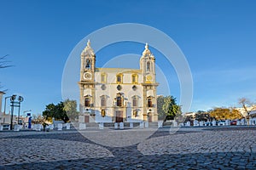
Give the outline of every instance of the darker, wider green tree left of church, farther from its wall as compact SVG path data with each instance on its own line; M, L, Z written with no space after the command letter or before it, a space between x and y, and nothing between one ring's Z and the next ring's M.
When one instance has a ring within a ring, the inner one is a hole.
M55 118L55 120L62 120L64 122L69 121L66 111L64 110L64 103L60 102L57 105L46 105L43 116L48 120L49 118Z

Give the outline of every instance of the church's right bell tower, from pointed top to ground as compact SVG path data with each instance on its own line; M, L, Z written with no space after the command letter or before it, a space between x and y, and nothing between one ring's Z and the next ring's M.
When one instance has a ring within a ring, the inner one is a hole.
M143 73L143 120L155 122L158 120L156 100L158 83L155 80L155 58L148 49L148 43L140 59L140 69Z

